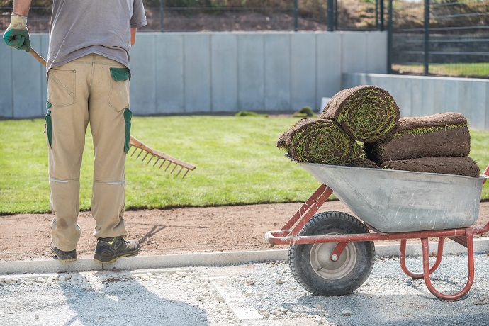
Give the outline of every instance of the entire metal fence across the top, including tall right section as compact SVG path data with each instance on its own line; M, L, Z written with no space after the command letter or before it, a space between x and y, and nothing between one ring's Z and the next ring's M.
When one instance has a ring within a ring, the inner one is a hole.
M386 17L390 73L489 76L489 0L144 2L142 32L384 30ZM10 13L0 8L1 30ZM29 30L47 32L50 14L49 6L33 6Z

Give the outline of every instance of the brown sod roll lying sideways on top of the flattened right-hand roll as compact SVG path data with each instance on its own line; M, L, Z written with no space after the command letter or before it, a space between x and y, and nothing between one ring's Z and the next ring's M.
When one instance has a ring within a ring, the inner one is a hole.
M366 157L377 164L418 157L463 157L471 151L466 118L460 113L400 118L393 135L365 143Z

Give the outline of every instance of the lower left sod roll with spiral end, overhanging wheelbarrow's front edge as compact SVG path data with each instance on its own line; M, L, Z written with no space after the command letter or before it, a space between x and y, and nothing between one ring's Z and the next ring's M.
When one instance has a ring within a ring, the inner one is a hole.
M303 118L277 140L298 162L347 165L359 159L361 146L337 123L326 119Z

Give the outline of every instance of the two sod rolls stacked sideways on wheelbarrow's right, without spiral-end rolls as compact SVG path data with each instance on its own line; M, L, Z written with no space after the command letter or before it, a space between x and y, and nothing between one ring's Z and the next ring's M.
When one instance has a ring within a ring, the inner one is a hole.
M366 157L385 169L479 176L468 157L471 136L460 113L400 118L393 135L364 144Z

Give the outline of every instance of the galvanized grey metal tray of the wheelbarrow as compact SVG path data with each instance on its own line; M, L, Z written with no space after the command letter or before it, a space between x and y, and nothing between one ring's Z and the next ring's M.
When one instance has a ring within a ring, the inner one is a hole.
M470 227L478 218L485 176L298 164L380 232Z

